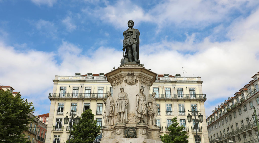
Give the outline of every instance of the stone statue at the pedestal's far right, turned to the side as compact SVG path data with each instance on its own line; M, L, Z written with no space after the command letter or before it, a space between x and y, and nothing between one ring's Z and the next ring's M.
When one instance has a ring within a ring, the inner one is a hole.
M148 125L155 125L156 126L156 116L158 113L159 107L156 105L156 99L155 99L155 92L152 92L152 96L149 98L148 101L148 116L149 116L149 122Z

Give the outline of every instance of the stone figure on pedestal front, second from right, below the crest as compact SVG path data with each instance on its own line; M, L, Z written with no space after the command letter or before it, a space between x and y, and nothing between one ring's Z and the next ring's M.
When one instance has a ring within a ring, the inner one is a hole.
M137 118L139 118L139 123L144 123L144 116L146 115L147 112L147 102L146 102L146 95L143 93L144 92L144 87L141 86L139 89L139 94L136 95L136 111L135 115Z

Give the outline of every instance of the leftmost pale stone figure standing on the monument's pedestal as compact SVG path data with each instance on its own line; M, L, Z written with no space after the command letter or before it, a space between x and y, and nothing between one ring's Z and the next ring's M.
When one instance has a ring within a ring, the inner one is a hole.
M103 114L103 119L105 125L113 125L113 118L114 118L114 101L113 97L111 96L111 92L107 91L108 98L104 101L105 110Z

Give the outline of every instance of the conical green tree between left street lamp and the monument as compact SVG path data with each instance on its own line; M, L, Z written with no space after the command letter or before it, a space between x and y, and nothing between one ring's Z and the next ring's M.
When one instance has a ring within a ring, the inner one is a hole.
M92 110L88 109L81 114L78 125L73 125L71 135L74 139L70 143L92 143L100 132L101 127L96 124ZM68 143L69 141L67 141Z

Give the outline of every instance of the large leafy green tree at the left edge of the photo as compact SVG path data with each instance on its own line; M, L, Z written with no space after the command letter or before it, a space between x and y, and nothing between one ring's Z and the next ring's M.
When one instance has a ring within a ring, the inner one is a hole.
M34 111L33 103L19 93L13 96L9 90L0 90L0 142L28 142L22 132L28 129L31 111Z

